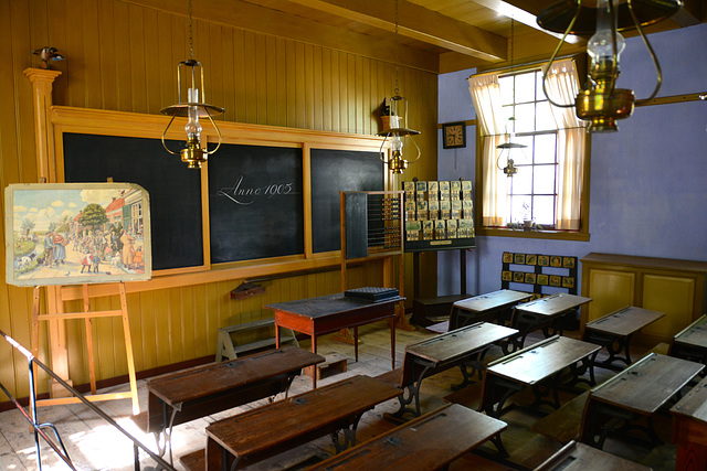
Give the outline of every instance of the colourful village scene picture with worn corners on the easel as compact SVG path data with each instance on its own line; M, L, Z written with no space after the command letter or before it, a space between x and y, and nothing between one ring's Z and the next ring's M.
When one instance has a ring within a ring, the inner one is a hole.
M149 196L131 183L13 184L6 242L11 285L147 280Z

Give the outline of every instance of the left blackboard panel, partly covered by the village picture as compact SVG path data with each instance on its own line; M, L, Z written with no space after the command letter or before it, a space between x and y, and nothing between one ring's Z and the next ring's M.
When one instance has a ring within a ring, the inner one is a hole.
M150 195L152 269L203 265L201 176L159 139L64 132L67 183L137 183ZM168 142L169 144L170 142ZM175 142L172 147L178 148Z

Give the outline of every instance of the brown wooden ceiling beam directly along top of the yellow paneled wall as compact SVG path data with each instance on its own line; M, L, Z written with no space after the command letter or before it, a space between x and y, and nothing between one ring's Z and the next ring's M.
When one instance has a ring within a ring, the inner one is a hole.
M187 1L124 1L168 13L188 14ZM394 40L372 38L246 1L192 0L192 18L439 73L436 53L397 45Z

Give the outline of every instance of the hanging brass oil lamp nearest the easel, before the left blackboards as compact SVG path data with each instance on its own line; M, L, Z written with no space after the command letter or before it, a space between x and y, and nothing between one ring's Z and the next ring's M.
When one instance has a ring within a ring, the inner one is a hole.
M221 115L223 113L223 108L203 103L205 101L205 92L203 89L203 65L199 61L194 60L191 28L191 0L189 1L189 55L190 58L180 62L177 66L177 87L179 88L179 103L160 110L162 115L170 115L172 117L169 120L167 128L165 128L165 132L162 132L162 146L169 153L181 156L182 162L186 162L189 169L201 169L201 164L207 161L209 156L214 153L217 150L219 150L219 147L221 147L221 131L219 130L217 124L213 121L213 116ZM184 83L184 88L182 88L182 71L187 71L186 74L191 77L188 83ZM200 101L199 99L200 89L201 100L203 101ZM186 100L182 99L182 93L184 93L187 97ZM177 118L178 116L187 118L187 125L184 126L184 131L187 132L187 141L183 149L181 149L179 152L175 152L167 147L165 137L170 126L175 121L175 118ZM205 147L201 147L201 131L203 128L199 122L199 119L204 117L209 118L209 121L211 121L211 125L219 136L219 143L212 151L209 151Z

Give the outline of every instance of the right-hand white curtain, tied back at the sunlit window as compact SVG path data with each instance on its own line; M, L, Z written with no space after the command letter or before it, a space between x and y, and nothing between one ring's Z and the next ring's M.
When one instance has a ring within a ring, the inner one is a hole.
M544 67L542 72L547 69ZM546 92L558 104L574 103L579 92L574 61L553 62L546 78ZM580 203L584 179L587 124L579 119L574 107L550 107L557 124L558 197L556 214L558 229L580 228ZM584 208L588 211L589 208Z

